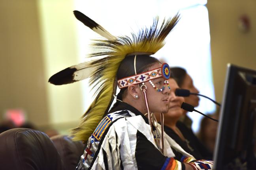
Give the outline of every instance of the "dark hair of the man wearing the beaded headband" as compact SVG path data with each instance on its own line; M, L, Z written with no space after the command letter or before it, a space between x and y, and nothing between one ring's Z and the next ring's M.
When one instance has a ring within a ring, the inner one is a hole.
M120 66L117 70L117 79L135 75L134 57L135 57L135 55L127 56L120 63ZM149 55L137 55L136 56L136 74L148 71L149 67L151 67L154 63L160 63L160 62L155 57L151 57ZM120 90L120 92L117 95L117 99L122 100L123 95L125 95L126 89L127 88L123 88ZM114 109L115 107L117 107L118 103L119 103L119 101L117 101L113 105L111 110Z

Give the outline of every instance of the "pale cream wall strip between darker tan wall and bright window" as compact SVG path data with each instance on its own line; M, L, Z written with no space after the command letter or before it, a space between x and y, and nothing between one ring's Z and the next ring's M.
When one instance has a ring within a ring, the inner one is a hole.
M56 72L81 62L73 10L73 0L38 0L47 103L50 121L55 127L77 126L84 112L81 82L61 86L47 83Z

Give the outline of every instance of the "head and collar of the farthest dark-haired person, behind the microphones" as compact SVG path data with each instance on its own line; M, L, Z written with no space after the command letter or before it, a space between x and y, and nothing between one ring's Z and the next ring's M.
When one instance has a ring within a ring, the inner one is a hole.
M194 86L192 78L188 75L186 70L181 67L171 67L171 72L173 74L173 78L177 82L178 86L181 89L187 89L193 93L199 93L198 89ZM190 95L188 97L184 97L186 103L197 107L199 105L200 98L196 95ZM183 110L183 116L181 116L180 120L183 122L189 129L192 126L192 120L186 115L187 111Z

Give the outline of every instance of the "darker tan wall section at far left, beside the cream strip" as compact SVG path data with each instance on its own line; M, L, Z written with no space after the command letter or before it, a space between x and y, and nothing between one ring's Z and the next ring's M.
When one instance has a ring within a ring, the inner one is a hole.
M40 126L49 114L38 24L36 1L0 2L0 117L21 108Z

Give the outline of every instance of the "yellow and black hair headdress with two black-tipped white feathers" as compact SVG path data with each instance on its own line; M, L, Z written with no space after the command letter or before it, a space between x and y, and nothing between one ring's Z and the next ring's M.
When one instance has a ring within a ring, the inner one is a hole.
M49 82L60 85L90 78L90 85L96 91L96 98L82 116L81 124L73 129L74 140L86 141L113 102L113 94L116 93L117 88L117 70L122 60L129 54L146 53L151 55L160 50L164 46L166 36L177 24L179 14L164 20L160 26L157 17L150 28L143 28L137 34L131 33L130 37L115 37L79 11L74 11L74 14L78 20L106 39L94 40L92 53L89 54L92 59L90 63L81 63L66 68L53 75ZM101 58L99 59L99 57ZM88 71L89 69L92 71ZM77 71L85 76L76 76ZM75 79L76 77L79 79ZM96 84L100 84L100 86Z

